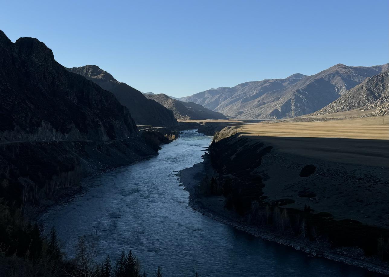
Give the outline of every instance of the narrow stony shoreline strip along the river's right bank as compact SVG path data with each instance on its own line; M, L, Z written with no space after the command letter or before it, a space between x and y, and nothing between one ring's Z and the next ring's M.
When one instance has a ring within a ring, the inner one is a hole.
M364 256L363 250L358 247L336 247L323 242L303 240L301 238L285 237L275 232L270 227L256 227L246 222L234 211L225 208L225 199L220 196L204 196L199 190L199 183L214 175L210 166L208 154L205 154L205 161L195 164L191 168L182 170L178 176L182 184L189 191L189 205L218 222L231 225L261 239L277 242L291 246L298 251L307 253L309 257L324 257L329 260L339 261L348 265L361 267L366 270L380 274L389 274L386 263L380 262L377 258Z

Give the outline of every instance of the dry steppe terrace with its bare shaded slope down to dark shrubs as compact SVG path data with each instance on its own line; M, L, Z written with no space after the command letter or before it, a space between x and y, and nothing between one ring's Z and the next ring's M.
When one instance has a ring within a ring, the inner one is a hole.
M193 122L230 126L225 133L250 138L245 147L258 140L273 147L255 171L266 184L266 201L289 198L295 202L285 207L302 209L307 204L335 219L389 227L389 116ZM301 178L307 164L314 164L316 171ZM302 198L302 190L316 197Z

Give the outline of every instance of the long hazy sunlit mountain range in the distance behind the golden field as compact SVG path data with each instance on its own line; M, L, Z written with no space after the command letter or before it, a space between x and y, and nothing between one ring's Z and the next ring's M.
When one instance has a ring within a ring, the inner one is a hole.
M251 81L232 88L213 88L180 100L242 119L290 118L321 109L387 66L336 64L312 76L296 73L286 79Z

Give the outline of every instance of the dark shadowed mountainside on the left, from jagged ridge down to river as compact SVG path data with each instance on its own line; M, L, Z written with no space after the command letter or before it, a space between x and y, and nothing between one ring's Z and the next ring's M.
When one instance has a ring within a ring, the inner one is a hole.
M35 38L0 31L0 197L40 203L80 178L157 154L115 95Z

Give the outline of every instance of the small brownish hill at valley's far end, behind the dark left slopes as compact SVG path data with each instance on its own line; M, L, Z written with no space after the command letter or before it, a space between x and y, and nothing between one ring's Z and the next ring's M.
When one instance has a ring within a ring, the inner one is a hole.
M163 93L145 96L173 111L177 119L227 119L223 114L211 111L199 104L172 99Z

